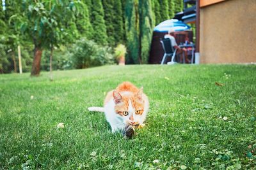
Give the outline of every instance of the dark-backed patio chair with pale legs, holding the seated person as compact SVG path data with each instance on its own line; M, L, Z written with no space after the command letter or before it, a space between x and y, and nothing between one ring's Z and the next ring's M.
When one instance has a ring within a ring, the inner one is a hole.
M164 56L161 61L161 65L164 64L166 57L172 57L171 62L168 62L167 64L175 64L176 62L174 62L174 58L177 50L173 48L170 38L163 38L160 42L164 48Z

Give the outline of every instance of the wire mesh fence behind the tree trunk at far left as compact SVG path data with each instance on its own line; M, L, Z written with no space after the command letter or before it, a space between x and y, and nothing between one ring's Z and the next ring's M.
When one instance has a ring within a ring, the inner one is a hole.
M20 73L22 69L23 73L30 72L33 64L33 48L20 47L20 62L18 47L15 49L3 49L0 48L0 74L4 73ZM49 53L44 52L41 59L41 70L49 71ZM21 64L21 67L19 67ZM56 65L56 62L52 62L52 66Z

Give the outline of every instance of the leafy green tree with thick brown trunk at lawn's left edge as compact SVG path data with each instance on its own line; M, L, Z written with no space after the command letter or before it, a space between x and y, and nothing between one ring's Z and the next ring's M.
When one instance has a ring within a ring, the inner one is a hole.
M79 4L79 5L78 5ZM31 76L40 74L42 51L51 51L77 37L74 16L82 12L80 1L22 1L22 15L13 15L22 34L35 46Z

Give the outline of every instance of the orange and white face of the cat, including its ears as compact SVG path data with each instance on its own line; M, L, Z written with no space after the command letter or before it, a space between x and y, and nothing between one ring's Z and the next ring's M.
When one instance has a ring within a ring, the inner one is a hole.
M124 124L143 124L144 101L142 99L143 89L134 96L121 96L114 90L115 113L120 116Z

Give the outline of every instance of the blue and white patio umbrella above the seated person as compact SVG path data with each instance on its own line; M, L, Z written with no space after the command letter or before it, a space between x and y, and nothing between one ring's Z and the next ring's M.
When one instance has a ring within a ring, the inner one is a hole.
M191 27L180 20L172 19L161 22L154 28L154 31L168 32L170 28L174 29L174 31L185 31L189 30Z

